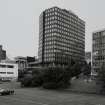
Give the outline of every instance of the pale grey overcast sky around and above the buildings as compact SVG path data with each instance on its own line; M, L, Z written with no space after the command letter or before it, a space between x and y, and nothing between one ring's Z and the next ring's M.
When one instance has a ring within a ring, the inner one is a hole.
M92 32L105 28L105 0L0 0L0 44L7 56L37 56L39 15L52 6L72 10L86 22L85 50Z

